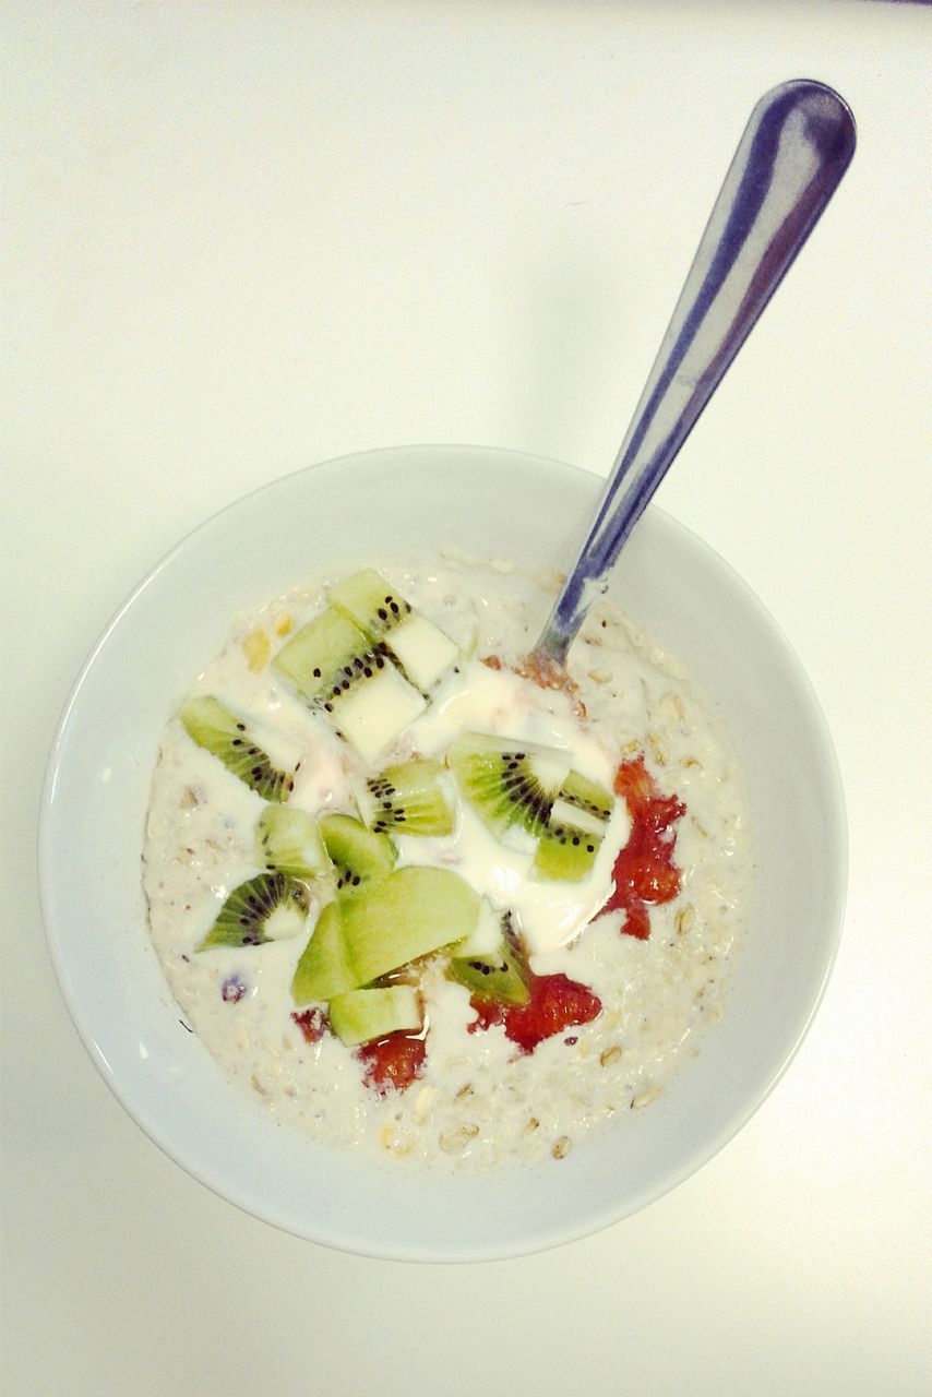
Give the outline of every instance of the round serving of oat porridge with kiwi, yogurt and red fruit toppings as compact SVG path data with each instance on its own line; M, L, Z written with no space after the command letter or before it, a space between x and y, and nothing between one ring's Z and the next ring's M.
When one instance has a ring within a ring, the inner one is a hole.
M152 940L278 1123L435 1168L560 1160L721 1018L752 882L735 757L606 601L567 683L535 682L556 581L444 555L295 590L166 725Z

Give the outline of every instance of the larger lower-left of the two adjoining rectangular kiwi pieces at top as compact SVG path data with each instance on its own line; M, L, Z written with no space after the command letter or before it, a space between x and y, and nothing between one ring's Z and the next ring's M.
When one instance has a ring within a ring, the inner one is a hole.
M302 626L272 665L363 761L374 761L425 708L423 696L335 606Z

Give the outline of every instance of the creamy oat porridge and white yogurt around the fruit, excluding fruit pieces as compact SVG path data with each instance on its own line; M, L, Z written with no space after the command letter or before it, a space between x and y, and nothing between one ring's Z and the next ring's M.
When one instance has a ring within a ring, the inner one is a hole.
M381 567L397 588L463 647L517 661L549 612L553 578L444 556L430 570ZM299 752L291 803L317 814L351 810L351 749L267 664L250 669L246 637L270 650L320 609L320 588L298 590L238 620L231 641L193 686L274 733L275 750ZM155 949L189 1024L228 1076L278 1122L335 1144L435 1166L485 1168L565 1155L584 1136L623 1120L665 1091L717 1021L727 997L752 866L739 774L710 704L682 666L604 601L571 652L587 717L562 692L538 689L478 659L450 673L429 710L384 761L443 753L464 728L565 747L584 775L611 787L620 760L644 756L664 795L686 806L678 824L680 891L650 908L651 936L622 935L623 914L592 921L612 891L612 866L630 830L618 800L591 875L576 884L527 873L532 847L503 845L465 807L446 840L400 835L400 863L456 868L507 907L538 974L563 972L590 986L602 1013L523 1055L502 1027L469 1032L468 992L437 967L423 983L428 1055L419 1081L379 1097L354 1052L331 1035L305 1042L289 986L307 933L260 947L196 953L224 898L254 876L254 823L263 802L177 719L163 733L152 781L144 886ZM309 926L313 923L313 915ZM231 997L224 985L243 988Z

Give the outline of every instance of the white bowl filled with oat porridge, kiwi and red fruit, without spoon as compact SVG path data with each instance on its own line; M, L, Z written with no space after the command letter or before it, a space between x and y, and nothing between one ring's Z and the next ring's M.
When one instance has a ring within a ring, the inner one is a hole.
M41 835L75 1025L229 1201L476 1260L706 1162L816 1010L840 782L787 641L651 509L560 683L528 664L601 481L517 453L326 462L137 588Z

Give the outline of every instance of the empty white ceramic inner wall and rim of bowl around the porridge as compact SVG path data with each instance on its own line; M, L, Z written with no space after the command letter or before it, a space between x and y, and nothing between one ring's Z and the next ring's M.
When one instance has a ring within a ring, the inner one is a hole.
M602 482L478 447L330 461L215 515L145 578L103 633L52 752L42 902L61 990L105 1080L183 1168L249 1213L373 1256L513 1256L594 1232L704 1164L760 1105L826 985L845 887L831 743L774 622L699 539L657 510L612 577L623 609L720 703L743 760L757 886L724 1023L650 1109L559 1168L435 1178L372 1166L270 1123L228 1085L162 978L140 854L159 732L235 612L330 564L453 545L566 567Z

